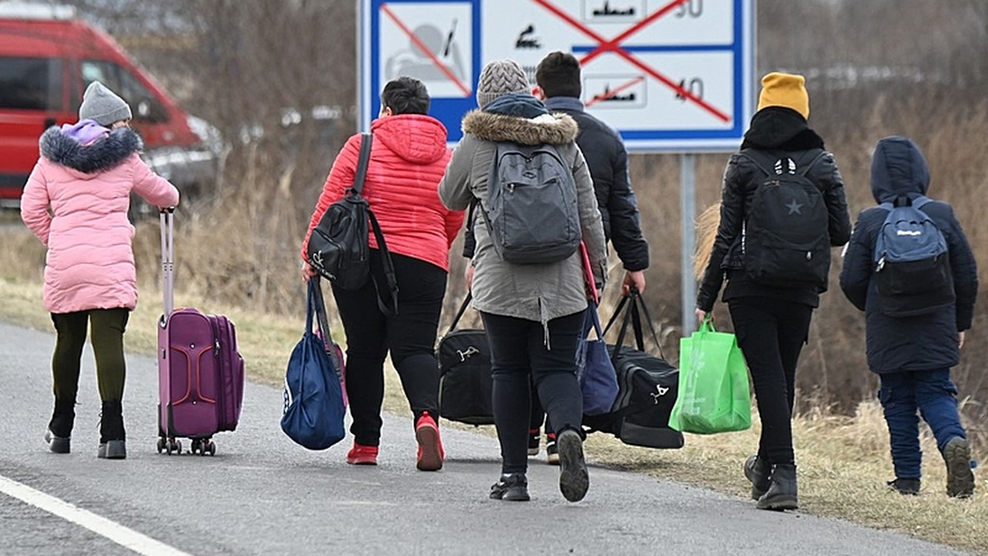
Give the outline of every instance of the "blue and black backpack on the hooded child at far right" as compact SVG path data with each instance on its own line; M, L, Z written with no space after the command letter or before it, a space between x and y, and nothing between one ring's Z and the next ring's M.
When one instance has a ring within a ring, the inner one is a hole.
M888 317L911 317L952 305L956 299L947 240L921 210L925 197L883 202L888 210L874 246L878 305Z

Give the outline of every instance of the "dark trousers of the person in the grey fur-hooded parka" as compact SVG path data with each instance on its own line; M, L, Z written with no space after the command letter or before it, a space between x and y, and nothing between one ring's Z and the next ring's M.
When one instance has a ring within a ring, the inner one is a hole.
M583 394L576 381L576 349L583 313L548 322L548 345L541 323L481 313L491 349L494 425L501 442L502 472L524 473L529 458L531 385L556 434L581 432Z

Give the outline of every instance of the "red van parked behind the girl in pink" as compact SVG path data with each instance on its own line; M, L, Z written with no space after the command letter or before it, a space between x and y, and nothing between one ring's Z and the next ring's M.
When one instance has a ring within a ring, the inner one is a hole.
M158 174L180 188L214 176L206 123L179 108L115 40L76 19L72 7L0 1L0 203L19 202L41 133L76 121L93 81L130 105Z

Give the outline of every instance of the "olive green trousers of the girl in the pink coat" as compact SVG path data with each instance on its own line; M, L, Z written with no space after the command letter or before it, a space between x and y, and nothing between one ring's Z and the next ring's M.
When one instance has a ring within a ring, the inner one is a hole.
M124 329L129 316L130 311L124 308L51 313L51 321L58 331L55 354L51 358L56 400L75 401L82 348L86 345L87 325L91 323L100 398L105 402L123 401L126 375Z

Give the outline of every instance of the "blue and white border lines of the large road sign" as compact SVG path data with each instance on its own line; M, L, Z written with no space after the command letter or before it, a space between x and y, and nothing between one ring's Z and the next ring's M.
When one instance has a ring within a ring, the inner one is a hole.
M360 3L360 44L359 53L359 126L369 129L372 119L380 111L378 92L380 83L380 29L381 4L465 4L472 10L472 72L470 89L480 77L481 62L481 4L484 0L361 0ZM639 152L704 152L735 150L740 144L748 120L753 114L755 82L755 10L756 0L733 0L734 25L733 40L729 44L669 44L669 45L628 45L629 52L655 51L731 51L734 54L734 125L730 129L665 129L665 130L619 130L629 151ZM370 24L370 26L368 26ZM593 50L593 45L573 45L574 53ZM364 54L370 52L367 57ZM365 75L370 73L370 75ZM433 99L430 114L443 121L449 131L449 141L457 142L462 137L459 120L464 114L477 108L475 96L462 99Z

